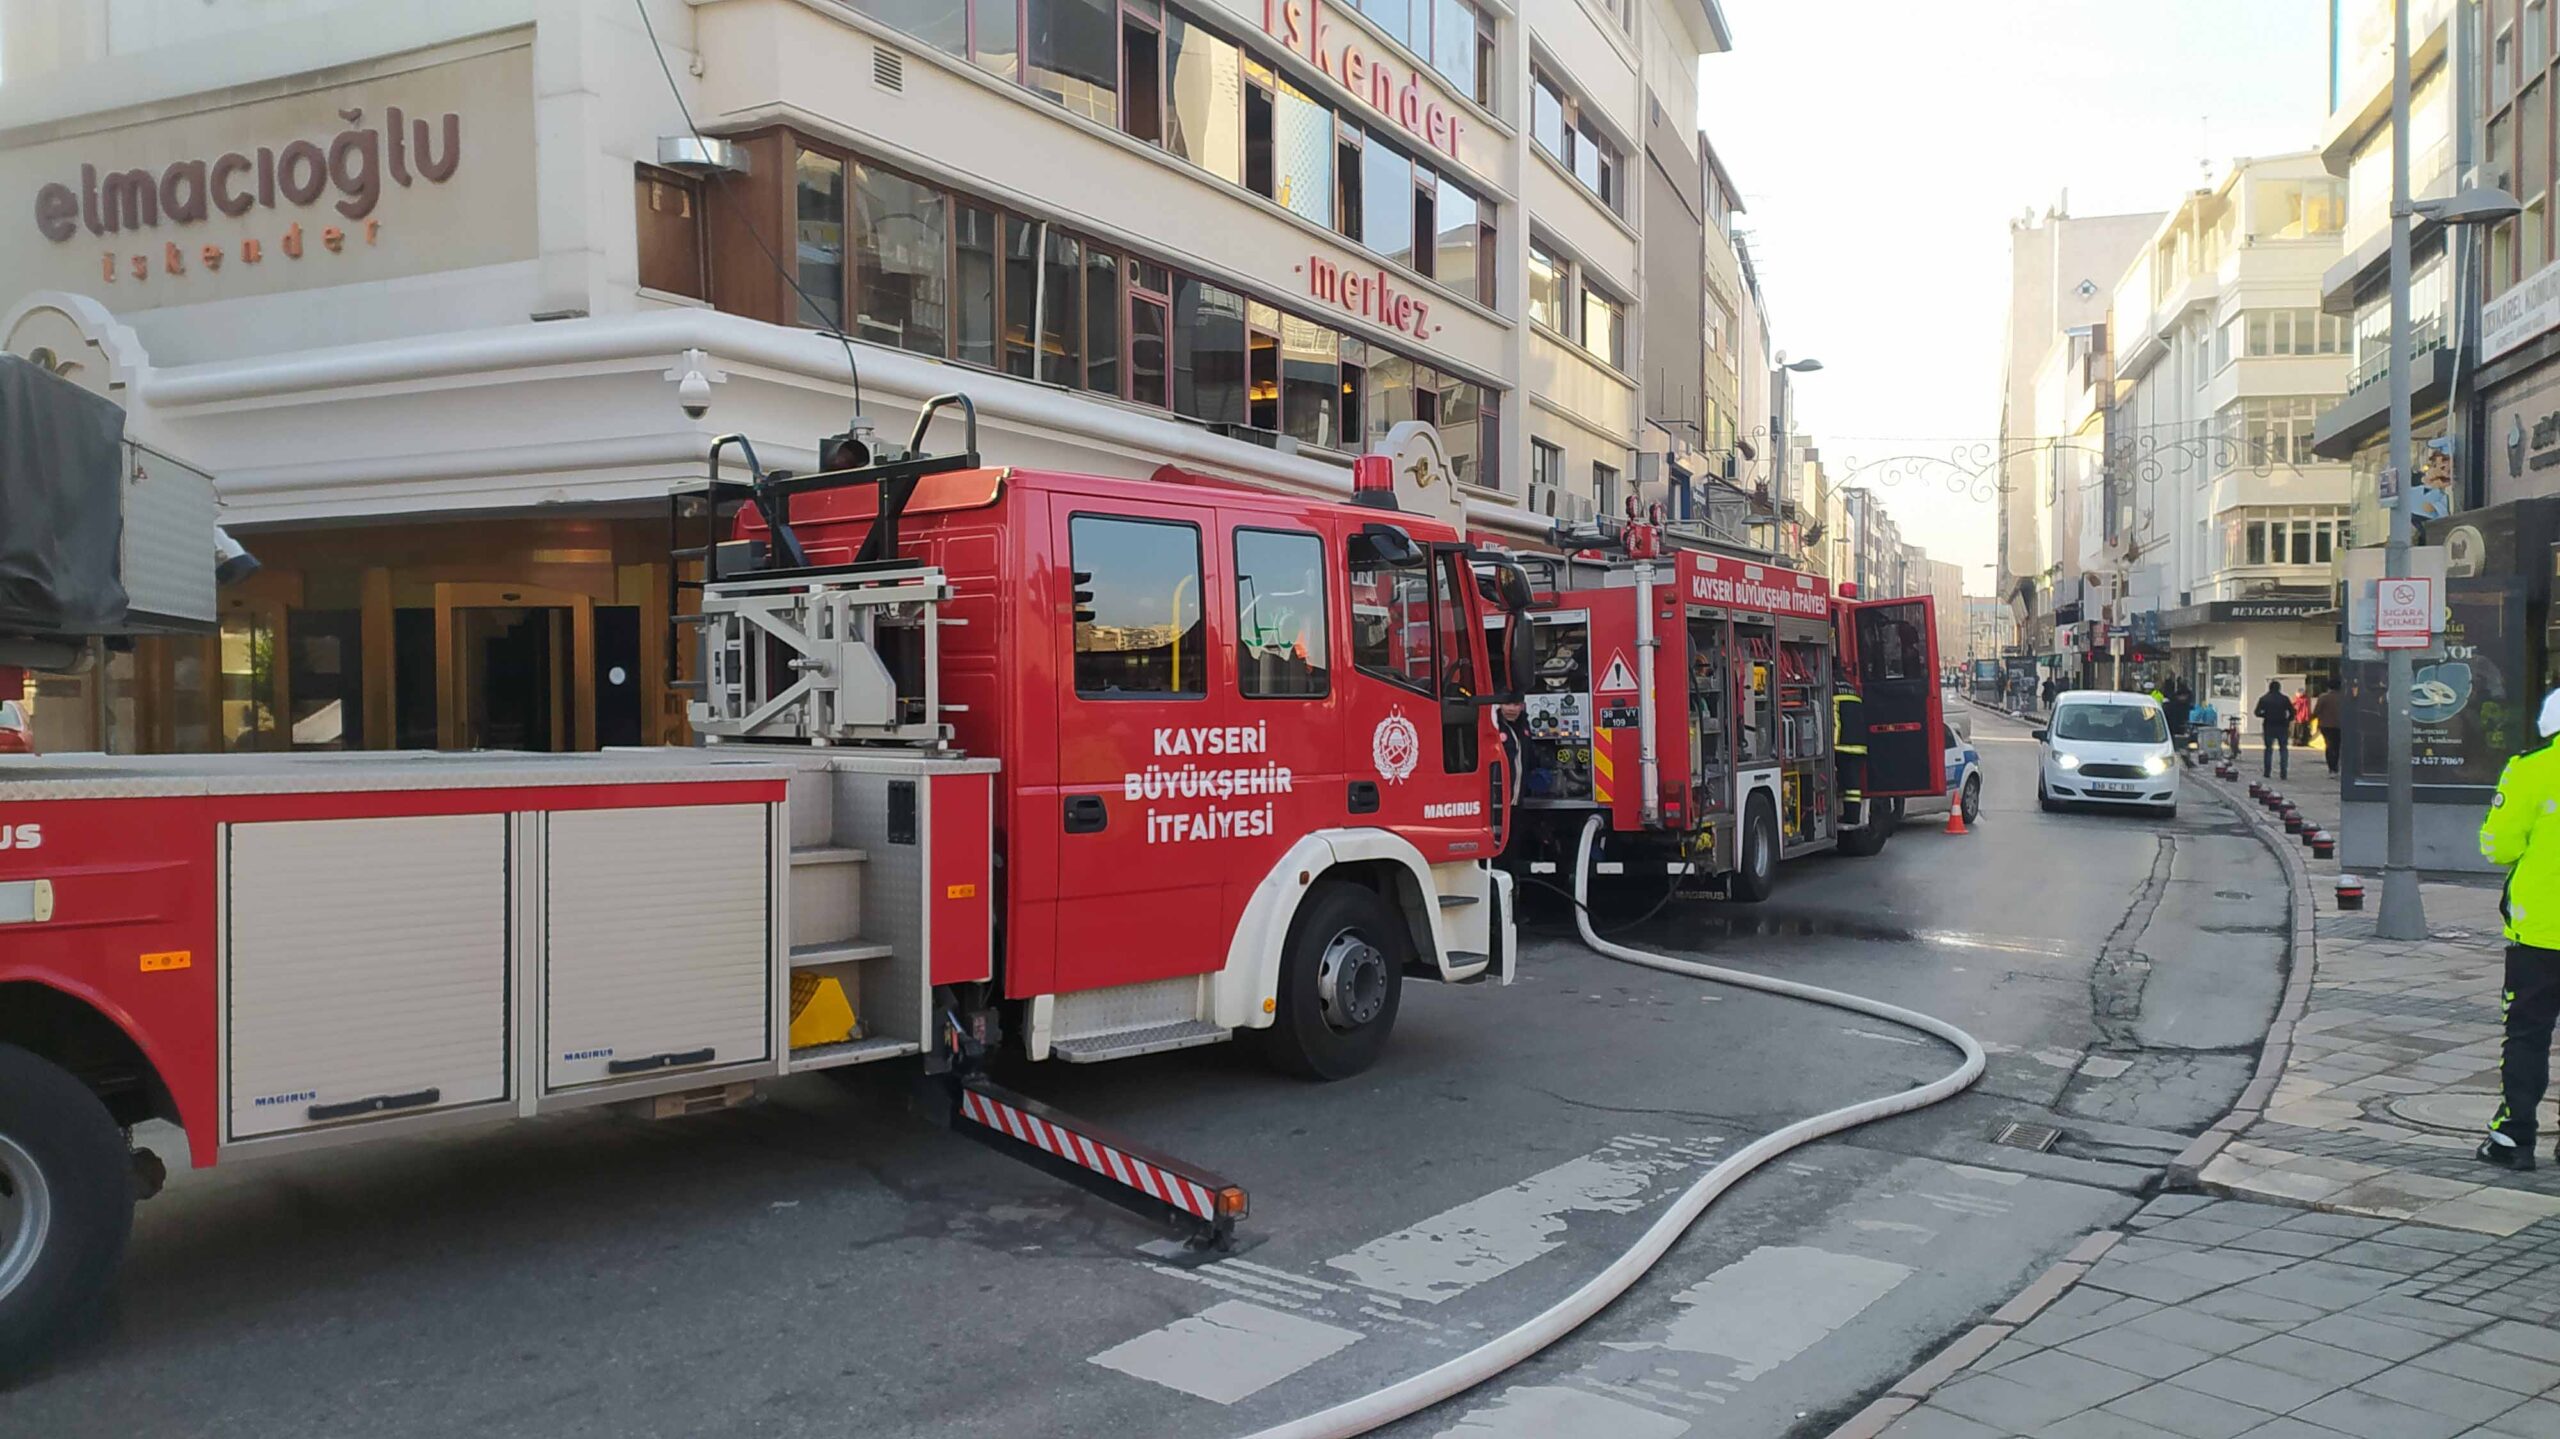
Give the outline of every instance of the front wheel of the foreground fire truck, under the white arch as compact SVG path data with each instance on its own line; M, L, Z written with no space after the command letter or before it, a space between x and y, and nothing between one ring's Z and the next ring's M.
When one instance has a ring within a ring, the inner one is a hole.
M1405 988L1405 919L1375 888L1321 881L1288 927L1280 1011L1260 1029L1280 1073L1339 1081L1377 1063Z

